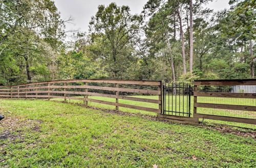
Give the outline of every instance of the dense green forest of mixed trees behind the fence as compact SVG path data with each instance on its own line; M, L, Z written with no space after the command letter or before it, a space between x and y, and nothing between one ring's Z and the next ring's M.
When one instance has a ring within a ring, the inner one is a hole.
M255 76L255 1L148 0L140 14L99 5L88 32L51 0L0 1L0 85L115 78L192 82Z

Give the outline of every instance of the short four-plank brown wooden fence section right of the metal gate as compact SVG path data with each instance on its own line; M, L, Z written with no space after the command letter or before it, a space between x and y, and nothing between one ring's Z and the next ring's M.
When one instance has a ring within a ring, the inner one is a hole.
M207 86L208 88L211 86L227 86L229 87L229 91L231 91L232 86L255 86L256 87L256 79L241 79L241 80L196 80L194 86L194 117L195 118L203 118L203 119L211 119L211 120L221 120L221 121L229 121L229 122L239 122L239 123L246 123L246 124L256 124L256 93L231 93L231 92L212 92L212 91L198 91L198 87L200 86ZM226 89L227 90L227 89ZM246 92L246 91L245 91ZM202 97L206 99L206 97L217 97L217 98L224 98L221 99L223 103L202 103L198 102L198 97ZM235 99L230 98L239 98L237 101ZM250 101L250 105L237 105L235 103L239 103L242 99L246 99ZM225 104L225 99L229 99L229 104ZM198 108L203 108L204 111L207 111L209 108L214 109L225 109L224 115L209 115L209 114L202 114L198 113ZM205 109L207 108L207 109ZM227 113L229 111L233 113L239 113L240 111L241 116L244 111L252 111L251 115L246 118L243 117L231 117L228 116ZM225 114L226 113L226 114Z

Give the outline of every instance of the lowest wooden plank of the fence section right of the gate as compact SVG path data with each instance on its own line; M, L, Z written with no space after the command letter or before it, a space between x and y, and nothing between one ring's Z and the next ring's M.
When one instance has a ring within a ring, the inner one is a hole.
M195 114L194 117L195 118L202 118L202 119L210 119L210 120L221 120L221 121L245 123L245 124L256 124L255 119L245 119L245 118L215 116L215 115L204 115L204 114Z

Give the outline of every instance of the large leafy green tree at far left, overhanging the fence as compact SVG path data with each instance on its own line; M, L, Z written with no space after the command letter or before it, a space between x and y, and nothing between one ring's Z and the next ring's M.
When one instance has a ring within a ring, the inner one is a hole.
M32 73L36 76L39 72L35 70L34 65L40 62L47 66L54 60L55 55L51 51L56 48L51 44L58 45L58 37L63 37L64 23L54 2L50 0L6 0L1 4L0 15L0 59L12 57L17 60L15 64L18 64L18 73L23 74L25 70L27 81L30 82L33 80ZM51 34L56 35L54 42L49 40ZM13 71L12 68L5 68L6 62L1 63L0 67L4 67L4 73ZM18 80L17 78L15 80Z

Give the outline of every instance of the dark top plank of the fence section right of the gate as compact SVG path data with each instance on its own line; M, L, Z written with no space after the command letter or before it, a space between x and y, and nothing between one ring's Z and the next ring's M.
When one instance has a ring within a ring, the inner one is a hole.
M195 80L195 86L256 85L256 79Z

